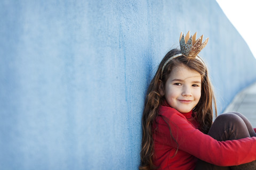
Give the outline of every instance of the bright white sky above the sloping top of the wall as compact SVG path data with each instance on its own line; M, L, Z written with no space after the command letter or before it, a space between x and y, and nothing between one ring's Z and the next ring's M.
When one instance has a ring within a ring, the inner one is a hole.
M256 1L216 0L256 58Z

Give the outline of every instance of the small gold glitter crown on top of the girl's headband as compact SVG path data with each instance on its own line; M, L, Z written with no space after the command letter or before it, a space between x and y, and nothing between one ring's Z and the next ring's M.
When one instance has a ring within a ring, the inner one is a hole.
M184 37L182 32L180 33L180 50L183 55L195 58L206 46L209 38L206 38L204 43L202 43L204 35L196 40L196 33L193 36L190 36L190 38L189 33L190 31L188 31L186 37Z

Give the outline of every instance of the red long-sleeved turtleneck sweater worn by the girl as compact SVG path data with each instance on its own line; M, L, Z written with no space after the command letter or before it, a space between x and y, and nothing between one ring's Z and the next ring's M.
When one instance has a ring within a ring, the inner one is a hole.
M197 158L219 166L233 166L256 159L256 137L239 140L217 141L198 130L198 123L191 120L192 112L181 114L170 106L160 106L153 127L154 165L158 169L194 169Z

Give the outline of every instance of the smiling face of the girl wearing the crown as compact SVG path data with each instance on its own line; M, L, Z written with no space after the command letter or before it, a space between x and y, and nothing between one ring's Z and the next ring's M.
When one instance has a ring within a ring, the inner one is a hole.
M165 96L172 108L188 113L201 97L201 84L201 75L182 64L173 68L161 95Z

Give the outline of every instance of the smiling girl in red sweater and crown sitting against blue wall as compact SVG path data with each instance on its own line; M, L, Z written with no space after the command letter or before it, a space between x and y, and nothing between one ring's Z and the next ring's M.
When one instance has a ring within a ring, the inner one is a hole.
M256 169L256 133L247 118L227 113L212 123L215 98L197 56L208 39L195 39L181 33L181 51L165 55L149 84L139 169Z

